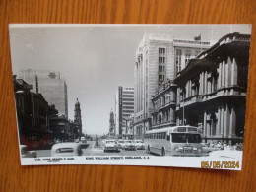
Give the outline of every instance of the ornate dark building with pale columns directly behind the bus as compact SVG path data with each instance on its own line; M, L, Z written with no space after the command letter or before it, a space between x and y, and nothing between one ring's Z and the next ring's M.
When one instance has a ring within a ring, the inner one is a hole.
M250 35L234 32L189 61L175 79L177 125L202 127L206 142L243 141L249 47Z

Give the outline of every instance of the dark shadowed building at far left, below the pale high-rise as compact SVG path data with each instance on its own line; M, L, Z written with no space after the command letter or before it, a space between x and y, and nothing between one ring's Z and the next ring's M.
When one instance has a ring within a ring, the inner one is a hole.
M32 92L32 85L13 76L18 130L21 144L30 148L47 145L51 130L49 118L58 113L54 105L39 93Z

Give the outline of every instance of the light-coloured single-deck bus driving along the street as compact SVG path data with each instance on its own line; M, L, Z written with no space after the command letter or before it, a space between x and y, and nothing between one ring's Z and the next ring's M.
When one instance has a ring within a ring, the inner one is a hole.
M160 156L202 156L201 129L174 126L145 133L147 153Z

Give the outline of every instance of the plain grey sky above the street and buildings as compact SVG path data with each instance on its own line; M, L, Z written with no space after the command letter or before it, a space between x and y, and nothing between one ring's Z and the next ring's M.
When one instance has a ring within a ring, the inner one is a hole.
M145 33L217 41L250 25L10 25L13 73L59 71L68 88L68 114L81 105L83 132L107 134L118 86L134 87L135 53Z

